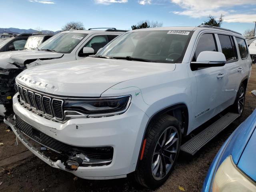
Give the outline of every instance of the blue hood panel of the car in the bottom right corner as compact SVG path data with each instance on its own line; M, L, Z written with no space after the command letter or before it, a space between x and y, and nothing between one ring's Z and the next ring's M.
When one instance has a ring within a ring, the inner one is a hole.
M255 120L255 119L254 119ZM254 126L255 128L255 126ZM250 178L256 181L256 130L252 133L250 140L248 141L244 152L238 162L238 167L246 173Z

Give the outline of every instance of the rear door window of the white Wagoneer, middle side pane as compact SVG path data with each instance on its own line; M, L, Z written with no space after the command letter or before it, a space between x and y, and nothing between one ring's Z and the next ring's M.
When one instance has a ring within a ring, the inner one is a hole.
M222 53L225 55L227 62L237 60L236 48L234 46L234 40L231 36L218 34Z

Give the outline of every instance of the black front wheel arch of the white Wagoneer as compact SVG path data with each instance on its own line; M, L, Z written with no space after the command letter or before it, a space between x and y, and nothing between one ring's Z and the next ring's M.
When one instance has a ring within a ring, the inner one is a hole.
M146 138L146 135L148 134L149 128L150 128L151 124L154 123L154 120L156 120L157 118L159 118L163 114L169 114L170 116L173 116L173 117L178 119L178 121L180 122L181 127L182 127L182 130L181 130L182 136L186 136L186 134L188 132L189 116L188 116L188 107L186 106L186 104L184 104L184 103L173 104L173 105L168 106L166 108L163 108L163 109L159 110L158 112L156 112L155 114L153 114L149 118L148 123L146 125L146 128L144 130L144 134L143 134L141 145L140 145L140 152L139 152L139 156L138 156L138 161L137 161L137 164L136 164L136 170L138 168L138 163L140 162L140 157L141 157L141 154L142 154L142 148L143 148L144 140Z

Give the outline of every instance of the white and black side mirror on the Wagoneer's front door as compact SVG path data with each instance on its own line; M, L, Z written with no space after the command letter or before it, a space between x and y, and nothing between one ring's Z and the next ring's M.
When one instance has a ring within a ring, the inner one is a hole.
M202 51L198 55L196 61L190 62L191 70L198 70L206 67L220 67L226 64L226 57L221 52Z

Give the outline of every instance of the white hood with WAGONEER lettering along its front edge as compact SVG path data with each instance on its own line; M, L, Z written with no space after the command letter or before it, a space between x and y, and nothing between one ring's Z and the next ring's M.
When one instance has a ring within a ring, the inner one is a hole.
M123 81L173 71L176 64L87 57L24 70L16 82L49 94L99 97ZM133 85L136 86L136 85Z

